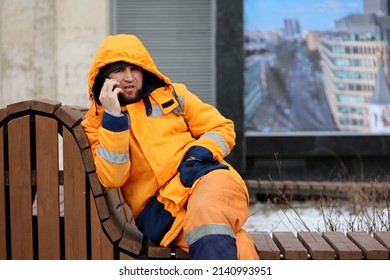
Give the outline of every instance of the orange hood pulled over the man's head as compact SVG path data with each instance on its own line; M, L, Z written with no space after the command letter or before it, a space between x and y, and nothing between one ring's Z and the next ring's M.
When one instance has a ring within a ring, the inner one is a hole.
M164 76L157 69L148 50L136 36L129 34L112 35L108 36L102 42L92 61L88 75L88 91L91 98L94 98L94 91L96 91L99 86L100 92L102 86L99 85L101 81L96 79L98 75L101 76L101 74L99 74L100 70L102 70L102 72L111 71L110 66L117 65L115 62L130 63L144 69L144 73L146 73L144 84L161 83L167 85L171 83L169 78ZM95 81L97 83L96 85ZM98 102L99 100L96 101Z

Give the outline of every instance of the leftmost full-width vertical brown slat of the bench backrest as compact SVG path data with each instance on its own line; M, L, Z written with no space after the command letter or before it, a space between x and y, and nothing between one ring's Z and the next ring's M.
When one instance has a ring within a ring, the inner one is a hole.
M8 146L12 259L33 259L29 115L8 123Z

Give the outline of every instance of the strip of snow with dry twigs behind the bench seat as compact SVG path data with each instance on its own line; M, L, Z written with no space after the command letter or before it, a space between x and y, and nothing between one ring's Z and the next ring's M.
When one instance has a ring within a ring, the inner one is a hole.
M293 202L290 207L274 204L251 204L247 231L367 231L389 230L389 205L354 205L347 202L323 204L315 201ZM333 227L333 229L330 228Z

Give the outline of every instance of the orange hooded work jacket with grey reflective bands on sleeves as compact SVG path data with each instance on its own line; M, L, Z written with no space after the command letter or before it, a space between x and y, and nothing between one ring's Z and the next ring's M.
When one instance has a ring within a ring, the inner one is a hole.
M155 75L163 86L148 93L148 102L141 99L122 107L129 122L124 131L111 131L102 126L104 108L95 100L82 125L102 185L121 187L136 218L152 197L172 215L172 224L159 240L161 246L168 246L182 229L184 206L199 180L196 178L192 186L186 187L178 172L191 148L201 147L210 154L212 161L227 166L228 169L218 172L230 174L247 192L240 175L224 160L235 144L234 124L215 107L203 103L185 85L171 83L133 35L108 36L99 47L89 72L91 99L99 70L117 61L140 66ZM145 79L144 83L147 83ZM146 113L148 103L151 111Z

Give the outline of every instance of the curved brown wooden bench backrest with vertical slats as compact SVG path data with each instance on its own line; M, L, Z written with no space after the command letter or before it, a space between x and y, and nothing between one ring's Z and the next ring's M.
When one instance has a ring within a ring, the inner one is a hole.
M0 110L0 259L119 258L101 222L120 235L105 199L120 195L102 189L82 119L49 100Z

